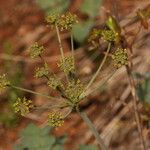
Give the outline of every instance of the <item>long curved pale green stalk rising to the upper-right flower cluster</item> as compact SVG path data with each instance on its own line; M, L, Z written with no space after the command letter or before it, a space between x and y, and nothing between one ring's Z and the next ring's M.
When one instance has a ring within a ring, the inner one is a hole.
M92 79L90 80L90 82L88 83L87 87L86 87L86 90L92 85L92 83L94 82L94 80L96 79L96 77L98 76L98 74L100 73L105 61L106 61L106 58L108 56L108 53L110 51L110 48L111 48L111 43L108 44L108 48L107 48L107 51L106 51L106 55L104 56L99 68L97 69L96 73L93 75Z

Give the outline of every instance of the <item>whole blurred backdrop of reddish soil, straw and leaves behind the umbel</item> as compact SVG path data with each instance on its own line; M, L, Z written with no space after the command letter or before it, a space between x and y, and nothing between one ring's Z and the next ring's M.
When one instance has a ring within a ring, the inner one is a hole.
M108 15L115 15L121 27L126 32L131 32L130 39L140 24L135 19L136 11L149 5L150 0L0 0L0 73L7 73L15 85L54 94L45 85L45 80L35 79L34 69L41 61L30 59L28 49L34 42L42 44L46 49L44 56L49 67L61 77L62 73L57 68L59 47L56 34L47 26L45 16L53 11L59 13L70 11L75 13L79 20L73 27L75 57L79 77L86 82L101 61L99 57L101 49L91 50L87 42L92 28L103 27ZM63 33L61 38L68 54L70 35ZM147 149L150 149L150 28L141 29L135 39L133 53L135 80L137 84L145 87L142 94L139 94L138 106L145 142ZM112 67L110 62L106 63L98 77L98 83L111 74ZM49 103L47 99L14 89L7 89L1 93L0 150L28 150L29 148L22 149L16 145L22 143L21 136L28 135L31 131L35 131L33 141L38 133L41 135L43 132L46 133L46 137L51 137L51 141L55 138L58 150L63 148L78 150L79 145L84 145L80 147L81 150L96 149L95 146L85 146L97 145L97 142L86 124L74 112L65 120L65 125L57 130L45 127L47 112L33 112L26 117L16 115L12 104L17 97L23 96L32 99L35 105ZM98 89L81 104L81 108L87 112L111 150L140 150L131 100L126 71L122 67L103 88ZM27 139L24 141L28 143Z

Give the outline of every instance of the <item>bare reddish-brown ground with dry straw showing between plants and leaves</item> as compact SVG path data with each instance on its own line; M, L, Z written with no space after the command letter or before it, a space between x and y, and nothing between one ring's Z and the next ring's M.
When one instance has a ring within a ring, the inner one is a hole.
M148 0L118 0L117 11L119 12L119 17L123 19L129 13L132 13L135 8L144 6L144 4L146 5L148 2L150 3ZM75 0L72 3L74 4L70 6L71 10L76 12L78 6L80 6L81 0ZM113 10L110 0L106 0L102 10L106 11L111 9ZM99 18L104 19L102 14ZM9 60L9 57L4 54L4 43L10 41L12 43L14 55L11 59L14 64L22 60L25 62L23 69L25 79L23 80L23 85L27 88L34 88L36 91L45 91L47 89L43 86L42 81L36 81L34 79L34 72L32 73L30 71L35 67L35 62L28 59L26 50L34 41L38 40L46 47L47 52L45 55L49 56L49 65L55 69L56 72L58 71L55 64L55 60L58 58L57 55L59 54L58 44L54 33L48 32L49 28L45 27L46 24L43 20L44 13L38 8L33 0L0 1L0 63L3 64L4 61ZM133 25L133 28L134 27L136 27L136 25ZM148 32L150 33L150 30L148 30ZM143 34L145 34L145 31L141 33L141 37L144 37ZM66 37L67 35L64 35L64 47L68 50L69 44ZM141 42L141 45L143 41L145 41L145 43L150 43L150 37L148 36L144 40L139 39L139 41ZM145 47L137 46L137 50L135 51L135 66L136 70L140 72L147 72L150 68L150 60L148 58L148 55L150 55L150 52L148 51L149 46L149 44ZM139 50L139 48L141 49ZM81 55L77 56L78 59L81 60L84 54L84 50L82 49ZM90 69L87 65L91 67L95 65L88 60L88 58L85 60L85 70L80 68L81 72L83 71L83 73L81 73L82 76L85 76L87 74L86 70ZM142 61L140 65L139 61ZM2 69L3 65L1 65L0 68ZM109 71L110 68L106 67L104 72L107 74ZM118 81L122 81L120 83L120 85L122 85L120 88L116 85ZM34 99L37 105L43 103L43 99L39 97L31 96L31 98ZM140 149L134 115L132 115L133 111L130 106L131 99L125 71L124 69L121 69L109 83L107 92L105 90L101 93L98 91L95 96L94 94L93 96L90 96L90 101L82 104L83 110L88 113L89 117L101 132L106 142L109 143L112 150ZM121 102L119 100L121 100ZM47 101L44 100L44 103L45 102ZM0 103L3 106L5 100L1 98ZM141 109L141 113L145 114L143 108ZM6 128L0 124L0 150L11 150L12 145L18 139L18 132L29 122L35 122L40 126L43 126L45 122L45 118L43 118L38 117L36 114L29 115L27 118L22 118L16 128ZM143 125L144 134L147 138L149 129L146 128L145 124ZM75 149L75 145L78 144L96 143L87 126L75 113L72 113L69 118L66 119L65 125L54 131L54 133L58 136L63 135L64 133L68 134L69 137L65 144L65 147L68 150ZM149 145L148 138L146 143Z

